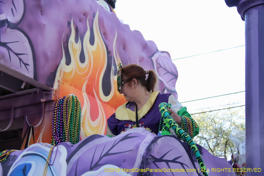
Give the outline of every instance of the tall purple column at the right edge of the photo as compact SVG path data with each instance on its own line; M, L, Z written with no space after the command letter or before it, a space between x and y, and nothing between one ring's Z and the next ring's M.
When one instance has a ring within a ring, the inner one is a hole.
M264 0L225 0L245 20L246 39L246 167L264 175Z

